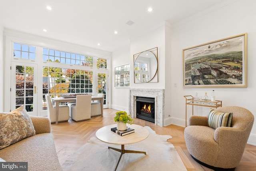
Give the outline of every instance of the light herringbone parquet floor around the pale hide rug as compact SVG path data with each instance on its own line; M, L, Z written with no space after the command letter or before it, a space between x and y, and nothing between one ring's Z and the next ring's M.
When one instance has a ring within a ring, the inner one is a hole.
M84 145L90 137L95 136L96 131L106 125L115 124L114 116L117 110L104 109L104 117L92 117L88 121L74 122L71 119L68 122L62 122L58 125L52 124L52 134L56 151L62 165L70 155ZM134 118L134 124L149 126L159 135L171 135L168 142L172 143L180 155L188 171L212 171L207 167L198 164L186 149L184 140L184 127L169 125L160 127L154 123ZM246 145L242 159L236 167L236 171L256 171L256 146Z

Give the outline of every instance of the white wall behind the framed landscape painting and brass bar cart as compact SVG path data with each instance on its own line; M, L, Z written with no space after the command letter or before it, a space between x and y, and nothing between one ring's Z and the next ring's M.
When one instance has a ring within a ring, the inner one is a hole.
M222 100L223 106L237 105L249 109L254 117L255 89L256 89L256 10L253 0L238 0L233 4L210 12L204 16L186 22L172 28L172 122L176 125L185 125L185 98L184 95L195 95L197 92L203 96L205 92L210 94L212 89L216 91L216 99ZM182 49L199 44L248 33L247 41L247 87L243 88L183 88L182 87ZM166 87L168 88L168 87ZM188 107L188 113L192 114L192 108ZM194 107L194 114L207 115L208 107ZM249 143L256 145L256 123L251 131Z

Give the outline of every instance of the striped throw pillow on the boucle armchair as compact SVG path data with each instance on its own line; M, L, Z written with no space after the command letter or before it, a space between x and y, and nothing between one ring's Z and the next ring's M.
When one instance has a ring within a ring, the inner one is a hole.
M233 113L222 113L210 109L208 116L208 126L216 129L217 127L231 127Z

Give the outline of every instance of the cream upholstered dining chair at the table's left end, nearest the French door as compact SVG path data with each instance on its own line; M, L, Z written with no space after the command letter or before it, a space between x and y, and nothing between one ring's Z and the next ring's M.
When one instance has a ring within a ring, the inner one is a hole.
M50 118L51 123L56 122L56 106L52 105L52 100L50 95L46 95L47 103L47 115ZM67 105L59 105L59 115L58 122L65 122L70 119L69 116L69 107Z

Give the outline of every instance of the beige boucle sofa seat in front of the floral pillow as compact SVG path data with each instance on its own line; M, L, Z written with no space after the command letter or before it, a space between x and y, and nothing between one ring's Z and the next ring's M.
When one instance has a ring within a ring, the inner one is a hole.
M62 171L52 133L40 133L0 150L7 162L28 162L28 171Z

